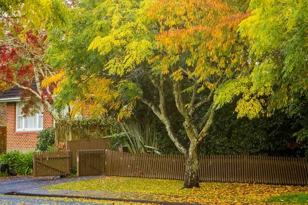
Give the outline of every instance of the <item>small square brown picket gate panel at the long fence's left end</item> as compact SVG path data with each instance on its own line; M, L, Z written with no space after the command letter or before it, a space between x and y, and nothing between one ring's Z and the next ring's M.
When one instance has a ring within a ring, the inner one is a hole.
M105 174L104 150L79 150L77 153L77 176Z

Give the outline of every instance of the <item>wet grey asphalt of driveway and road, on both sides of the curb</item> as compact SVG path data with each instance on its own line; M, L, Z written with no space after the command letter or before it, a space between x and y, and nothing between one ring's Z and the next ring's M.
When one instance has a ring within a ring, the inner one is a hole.
M24 197L4 195L9 192L22 192L34 188L57 185L71 181L86 180L98 178L101 176L88 177L70 177L70 178L53 178L53 177L12 177L0 178L0 204L102 204L90 201L71 201L67 199L54 199L47 197ZM53 179L52 179L53 178Z

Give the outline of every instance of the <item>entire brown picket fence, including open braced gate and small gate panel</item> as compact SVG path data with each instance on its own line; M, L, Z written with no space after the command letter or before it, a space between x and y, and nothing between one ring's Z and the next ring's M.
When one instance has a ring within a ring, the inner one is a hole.
M71 153L33 153L34 176L70 172ZM132 176L184 179L184 155L131 154L112 150L79 150L79 176ZM48 163L48 166L46 166ZM308 185L306 158L205 155L200 156L201 181L247 181L287 185ZM58 170L56 170L58 169Z

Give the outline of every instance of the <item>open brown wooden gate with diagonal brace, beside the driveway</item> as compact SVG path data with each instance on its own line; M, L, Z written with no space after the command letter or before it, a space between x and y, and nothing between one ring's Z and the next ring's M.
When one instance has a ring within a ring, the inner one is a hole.
M70 174L70 151L34 152L33 175L57 176Z

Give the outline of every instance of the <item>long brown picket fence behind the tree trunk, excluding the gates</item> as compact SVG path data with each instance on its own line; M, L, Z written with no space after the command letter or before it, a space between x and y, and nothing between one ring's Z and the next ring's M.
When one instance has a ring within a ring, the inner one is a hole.
M106 176L184 180L183 155L131 154L108 150ZM308 185L307 158L205 155L200 157L201 181L247 181L275 185Z

